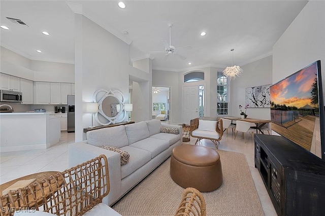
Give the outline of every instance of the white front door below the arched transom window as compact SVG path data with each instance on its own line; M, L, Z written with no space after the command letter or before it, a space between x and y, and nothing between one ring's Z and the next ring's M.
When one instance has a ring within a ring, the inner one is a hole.
M199 117L199 87L183 87L183 123Z

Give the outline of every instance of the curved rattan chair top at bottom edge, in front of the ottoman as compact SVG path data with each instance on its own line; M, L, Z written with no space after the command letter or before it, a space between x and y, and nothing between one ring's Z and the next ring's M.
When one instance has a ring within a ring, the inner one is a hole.
M182 201L175 216L206 216L206 204L203 195L195 188L186 188L183 191Z

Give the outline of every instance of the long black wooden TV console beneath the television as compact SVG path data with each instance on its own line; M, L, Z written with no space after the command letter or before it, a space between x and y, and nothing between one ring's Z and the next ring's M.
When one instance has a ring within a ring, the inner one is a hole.
M324 215L320 158L282 136L255 134L255 167L278 215Z

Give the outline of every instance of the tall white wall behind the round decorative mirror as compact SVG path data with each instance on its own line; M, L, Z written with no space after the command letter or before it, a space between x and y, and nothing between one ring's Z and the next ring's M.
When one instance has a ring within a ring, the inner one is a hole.
M84 112L85 102L92 102L93 94L98 89L120 90L128 101L128 82L131 75L141 77L144 81L141 83L142 91L147 95L144 93L146 101L142 104L147 109L144 110L146 115L149 116L147 98L150 75L128 64L129 45L80 14L75 14L75 28L76 141L86 139L83 128L91 125L91 114ZM144 84L145 81L147 84Z

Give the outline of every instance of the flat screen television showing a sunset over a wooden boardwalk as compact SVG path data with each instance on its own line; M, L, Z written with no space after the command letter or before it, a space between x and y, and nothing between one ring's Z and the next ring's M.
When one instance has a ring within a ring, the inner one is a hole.
M320 60L270 86L272 130L325 161Z

